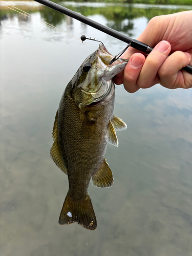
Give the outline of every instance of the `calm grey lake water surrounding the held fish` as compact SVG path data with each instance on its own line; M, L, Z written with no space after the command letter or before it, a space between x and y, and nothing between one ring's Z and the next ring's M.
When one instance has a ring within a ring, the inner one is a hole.
M191 256L192 89L116 87L115 115L127 130L106 151L113 186L89 187L97 229L60 226L68 178L49 156L53 122L68 82L98 47L74 37L101 40L114 55L125 44L35 2L4 4L67 34L0 7L1 256ZM63 5L133 38L153 16L192 7Z

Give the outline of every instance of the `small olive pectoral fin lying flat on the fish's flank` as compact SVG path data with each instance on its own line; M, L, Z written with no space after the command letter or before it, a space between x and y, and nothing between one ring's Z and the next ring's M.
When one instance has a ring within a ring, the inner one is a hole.
M81 134L83 137L87 137L88 139L95 133L97 125L97 119L90 116L89 112L84 117L81 126Z

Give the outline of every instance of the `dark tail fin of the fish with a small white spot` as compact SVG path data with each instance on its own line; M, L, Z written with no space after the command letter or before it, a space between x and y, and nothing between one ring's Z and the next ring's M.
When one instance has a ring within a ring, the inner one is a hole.
M74 200L67 194L59 217L59 224L71 224L77 222L84 228L94 230L97 220L89 194L86 199Z

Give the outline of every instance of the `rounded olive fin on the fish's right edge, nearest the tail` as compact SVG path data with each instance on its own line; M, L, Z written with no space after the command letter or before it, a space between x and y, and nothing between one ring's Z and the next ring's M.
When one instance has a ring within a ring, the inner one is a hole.
M96 187L111 187L113 185L113 174L105 159L98 172L92 176L91 183Z

